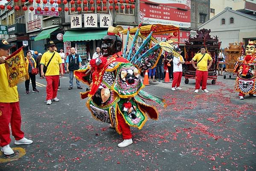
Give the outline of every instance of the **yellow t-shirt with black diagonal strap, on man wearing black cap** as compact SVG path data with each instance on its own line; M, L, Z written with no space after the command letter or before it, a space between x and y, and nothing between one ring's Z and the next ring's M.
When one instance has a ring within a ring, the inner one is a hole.
M49 60L52 58L52 52L45 52L42 55L40 64L47 66ZM58 52L55 52L52 61L49 63L47 67L47 71L45 73L46 76L50 75L59 75L60 74L60 64L62 65L61 55Z

